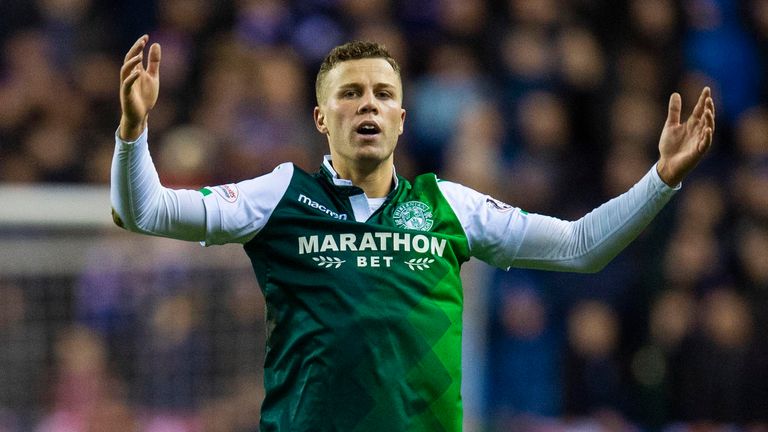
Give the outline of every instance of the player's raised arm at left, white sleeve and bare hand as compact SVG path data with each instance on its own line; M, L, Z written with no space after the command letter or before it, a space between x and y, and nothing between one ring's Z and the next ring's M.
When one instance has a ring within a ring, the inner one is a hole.
M293 165L237 184L200 191L169 189L160 183L147 144L147 118L160 89L160 45L144 48L140 37L120 70L122 116L115 134L110 198L119 226L133 232L200 241L244 243L266 224L288 188Z

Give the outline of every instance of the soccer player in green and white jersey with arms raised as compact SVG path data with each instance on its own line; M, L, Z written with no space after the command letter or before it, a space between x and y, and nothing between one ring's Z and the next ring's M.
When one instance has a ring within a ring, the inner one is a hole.
M375 43L333 49L314 122L330 155L199 191L163 187L148 113L161 50L139 38L120 71L111 198L134 232L240 243L267 303L262 431L459 431L462 288L471 256L492 265L600 270L680 187L712 142L704 88L681 123L673 94L660 157L629 191L573 222L529 214L434 174L395 173L403 132L397 62ZM503 182L504 179L499 179Z

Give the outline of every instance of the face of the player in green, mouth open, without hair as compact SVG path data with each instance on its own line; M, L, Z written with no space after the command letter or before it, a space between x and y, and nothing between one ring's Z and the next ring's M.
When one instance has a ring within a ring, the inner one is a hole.
M328 71L315 125L328 136L334 166L389 160L403 133L400 77L382 58L349 60Z

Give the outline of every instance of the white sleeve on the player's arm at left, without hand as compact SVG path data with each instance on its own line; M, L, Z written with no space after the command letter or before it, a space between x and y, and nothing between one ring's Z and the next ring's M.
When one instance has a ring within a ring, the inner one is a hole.
M245 243L267 223L293 174L288 163L237 184L169 189L160 184L146 129L135 142L115 137L112 208L121 225L134 232L205 245Z

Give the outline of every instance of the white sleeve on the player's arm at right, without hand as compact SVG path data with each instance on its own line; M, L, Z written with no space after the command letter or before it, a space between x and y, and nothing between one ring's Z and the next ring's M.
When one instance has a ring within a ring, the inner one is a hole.
M502 268L575 272L605 267L680 188L667 186L654 166L629 191L569 222L528 214L455 183L439 184L472 255Z

